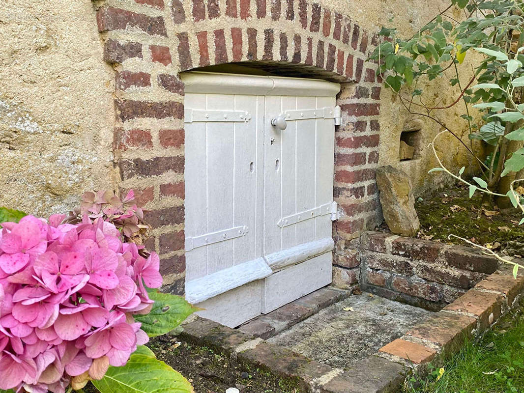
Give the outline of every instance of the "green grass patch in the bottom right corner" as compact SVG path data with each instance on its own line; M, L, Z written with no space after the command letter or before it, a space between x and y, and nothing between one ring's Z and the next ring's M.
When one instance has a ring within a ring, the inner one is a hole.
M404 393L524 393L524 302L482 340L468 342L461 352L431 374L406 380Z

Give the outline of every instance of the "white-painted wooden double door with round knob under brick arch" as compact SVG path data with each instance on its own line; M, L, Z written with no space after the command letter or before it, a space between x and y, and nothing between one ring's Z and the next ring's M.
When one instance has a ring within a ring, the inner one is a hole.
M331 282L340 85L203 72L182 80L186 297L234 327ZM286 129L271 125L278 116Z

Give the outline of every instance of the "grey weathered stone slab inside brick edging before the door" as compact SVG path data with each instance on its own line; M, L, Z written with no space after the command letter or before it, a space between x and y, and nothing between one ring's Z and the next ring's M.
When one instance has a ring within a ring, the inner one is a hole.
M321 310L267 341L317 362L347 369L433 314L364 292Z

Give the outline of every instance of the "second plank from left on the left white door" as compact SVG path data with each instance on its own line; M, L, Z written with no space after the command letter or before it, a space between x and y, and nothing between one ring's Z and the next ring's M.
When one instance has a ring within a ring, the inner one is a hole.
M208 110L232 111L234 96L208 94ZM233 227L233 160L234 124L208 123L208 231L223 231ZM208 248L208 274L232 266L233 242L223 241Z

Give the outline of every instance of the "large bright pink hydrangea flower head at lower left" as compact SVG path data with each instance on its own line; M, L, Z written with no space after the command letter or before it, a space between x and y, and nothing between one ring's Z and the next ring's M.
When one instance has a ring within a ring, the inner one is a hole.
M104 195L92 196L97 213ZM140 256L101 218L63 219L2 224L0 389L64 393L93 362L125 365L148 341L132 314L151 307L146 287L162 283L158 255Z

